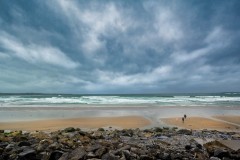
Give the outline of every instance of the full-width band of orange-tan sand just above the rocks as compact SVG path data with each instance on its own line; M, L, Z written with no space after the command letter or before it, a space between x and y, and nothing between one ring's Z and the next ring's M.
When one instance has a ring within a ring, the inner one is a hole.
M79 117L44 119L28 121L0 122L0 130L56 131L67 127L83 130L104 129L147 129L152 127L177 127L193 130L218 130L240 132L240 116L181 117L159 118L156 121L144 116ZM236 122L236 123L234 123Z

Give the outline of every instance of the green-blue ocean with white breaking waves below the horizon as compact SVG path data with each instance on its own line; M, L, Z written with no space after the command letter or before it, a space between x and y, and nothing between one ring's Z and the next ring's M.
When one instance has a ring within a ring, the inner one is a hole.
M0 106L76 105L240 106L240 93L198 94L0 94Z

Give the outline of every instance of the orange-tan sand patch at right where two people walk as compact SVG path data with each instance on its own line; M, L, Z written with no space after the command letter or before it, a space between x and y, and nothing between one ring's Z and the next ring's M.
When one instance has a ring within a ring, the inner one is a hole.
M237 116L239 118L239 116ZM162 118L161 121L166 123L167 125L173 125L181 128L187 129L213 129L213 130L224 130L224 131L239 131L239 125L230 124L223 121L217 121L210 118L204 117L188 117L185 119L184 123L182 122L182 118Z

